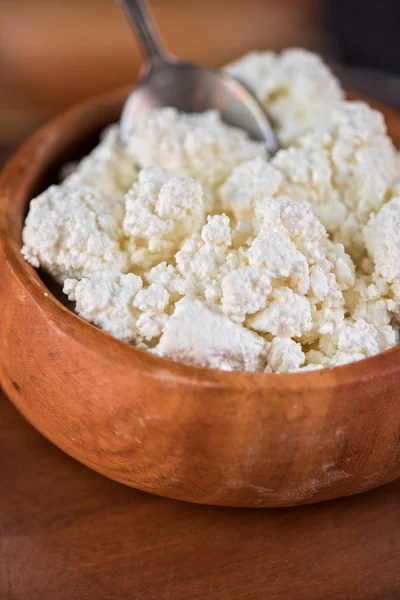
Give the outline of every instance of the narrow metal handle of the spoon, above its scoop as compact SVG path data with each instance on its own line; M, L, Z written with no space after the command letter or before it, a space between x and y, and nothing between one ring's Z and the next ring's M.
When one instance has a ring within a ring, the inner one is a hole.
M150 63L168 60L145 0L118 0L129 23L136 31L142 50Z

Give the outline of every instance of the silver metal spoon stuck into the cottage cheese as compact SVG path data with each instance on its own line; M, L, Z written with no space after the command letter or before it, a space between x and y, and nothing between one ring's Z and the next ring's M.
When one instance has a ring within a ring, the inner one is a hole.
M277 151L276 137L264 109L247 87L222 70L177 60L163 48L145 0L118 1L148 61L122 111L121 143L126 142L140 113L173 106L185 113L218 110L225 123L264 141L271 154Z

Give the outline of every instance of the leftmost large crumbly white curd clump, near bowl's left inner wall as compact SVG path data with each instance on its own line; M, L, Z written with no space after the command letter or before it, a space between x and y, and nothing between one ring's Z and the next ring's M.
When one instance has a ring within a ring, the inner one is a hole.
M51 186L29 205L22 254L58 281L125 273L122 199L113 200L94 188Z

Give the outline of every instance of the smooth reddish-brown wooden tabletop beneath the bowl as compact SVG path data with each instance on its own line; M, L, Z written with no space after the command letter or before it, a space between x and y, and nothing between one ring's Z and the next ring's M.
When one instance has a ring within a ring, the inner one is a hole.
M400 480L295 509L224 509L97 475L0 392L1 600L400 598Z

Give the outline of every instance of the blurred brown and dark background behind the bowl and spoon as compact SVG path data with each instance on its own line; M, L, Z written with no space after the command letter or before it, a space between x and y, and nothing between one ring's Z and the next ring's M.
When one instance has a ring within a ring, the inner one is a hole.
M400 109L400 0L149 0L170 50L222 65L251 49L320 52L344 85ZM32 130L134 81L113 0L0 0L0 162Z

